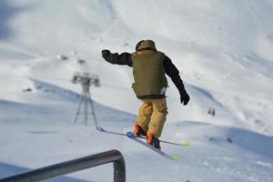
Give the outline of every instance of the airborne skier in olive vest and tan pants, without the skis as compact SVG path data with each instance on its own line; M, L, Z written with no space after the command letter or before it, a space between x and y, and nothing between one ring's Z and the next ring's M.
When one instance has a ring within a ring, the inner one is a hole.
M103 58L111 64L133 67L135 83L132 87L143 104L139 107L134 128L136 136L147 136L147 144L160 149L159 137L167 119L167 76L180 94L180 102L187 105L189 96L179 76L177 67L164 53L157 51L155 42L141 40L136 44L136 52L113 54L102 50Z

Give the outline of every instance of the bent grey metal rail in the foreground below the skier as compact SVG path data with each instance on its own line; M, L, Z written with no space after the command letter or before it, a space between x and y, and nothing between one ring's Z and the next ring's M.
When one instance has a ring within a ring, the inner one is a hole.
M38 168L13 177L5 177L0 179L0 182L41 181L111 162L114 164L114 182L126 182L125 161L124 157L118 150L110 150L96 155L66 161L53 166Z

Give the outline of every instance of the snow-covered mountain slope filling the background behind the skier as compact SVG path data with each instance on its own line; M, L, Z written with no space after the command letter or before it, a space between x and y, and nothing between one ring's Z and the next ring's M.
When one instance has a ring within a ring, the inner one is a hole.
M270 0L1 0L0 177L116 148L130 182L273 181L272 16ZM91 87L99 125L132 130L141 105L132 70L106 63L101 50L133 52L147 38L191 96L181 106L168 79L161 138L190 147L162 147L179 161L96 131L92 116L87 126L83 116L74 123L82 90L71 79L88 72L101 81ZM52 181L112 181L112 170Z

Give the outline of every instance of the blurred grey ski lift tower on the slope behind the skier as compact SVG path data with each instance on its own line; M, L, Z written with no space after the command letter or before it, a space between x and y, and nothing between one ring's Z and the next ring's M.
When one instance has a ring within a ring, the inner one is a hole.
M90 86L100 86L99 78L96 75L91 75L88 73L76 73L72 78L73 84L81 84L82 86L82 95L79 106L76 111L76 117L74 123L77 122L78 116L80 115L82 106L84 106L84 115L85 115L85 124L87 125L88 119L88 106L91 106L91 114L94 118L95 125L97 125L96 113L93 101L90 95Z

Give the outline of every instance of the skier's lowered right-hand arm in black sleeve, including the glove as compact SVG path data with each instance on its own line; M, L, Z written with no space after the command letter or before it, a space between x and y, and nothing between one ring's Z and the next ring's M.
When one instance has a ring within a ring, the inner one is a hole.
M167 56L165 57L165 60L164 60L164 67L165 67L167 76L169 76L174 82L174 84L177 86L177 89L180 94L181 104L184 103L184 105L187 105L189 101L189 96L187 95L187 91L185 89L183 81L179 76L179 71L177 67L172 63L170 58L168 58Z

